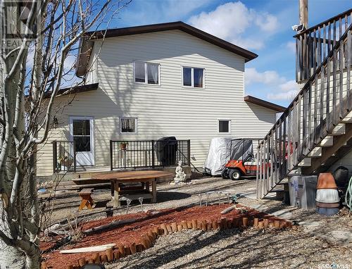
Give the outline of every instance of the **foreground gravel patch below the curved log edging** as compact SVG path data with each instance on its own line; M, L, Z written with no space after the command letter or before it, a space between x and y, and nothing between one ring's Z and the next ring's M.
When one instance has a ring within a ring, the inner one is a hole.
M150 249L106 268L333 268L332 264L352 268L351 248L301 230L187 230L159 237Z

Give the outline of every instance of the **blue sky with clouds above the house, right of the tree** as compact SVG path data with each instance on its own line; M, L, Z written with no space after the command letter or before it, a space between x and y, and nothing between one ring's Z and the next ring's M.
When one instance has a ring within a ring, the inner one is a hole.
M309 26L352 0L308 0ZM296 93L294 31L298 0L133 0L109 27L182 20L258 54L246 64L246 94L287 106Z

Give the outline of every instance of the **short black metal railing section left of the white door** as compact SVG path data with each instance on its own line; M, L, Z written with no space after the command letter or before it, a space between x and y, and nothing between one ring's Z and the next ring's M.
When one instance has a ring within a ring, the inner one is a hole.
M53 172L76 172L75 142L56 141L53 144Z

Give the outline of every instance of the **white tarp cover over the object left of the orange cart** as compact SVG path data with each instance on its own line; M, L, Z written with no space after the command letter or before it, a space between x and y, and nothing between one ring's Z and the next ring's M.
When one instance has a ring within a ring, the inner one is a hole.
M209 175L221 175L223 166L230 159L231 138L217 137L210 141L204 171Z

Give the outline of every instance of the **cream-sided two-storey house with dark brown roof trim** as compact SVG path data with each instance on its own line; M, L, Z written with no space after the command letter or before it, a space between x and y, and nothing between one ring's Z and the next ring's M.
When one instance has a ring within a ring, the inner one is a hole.
M77 170L151 166L161 137L179 140L174 161L201 168L213 137L261 139L284 108L244 96L245 63L256 57L182 22L89 33L77 56L85 85L56 97L37 175L73 161Z

